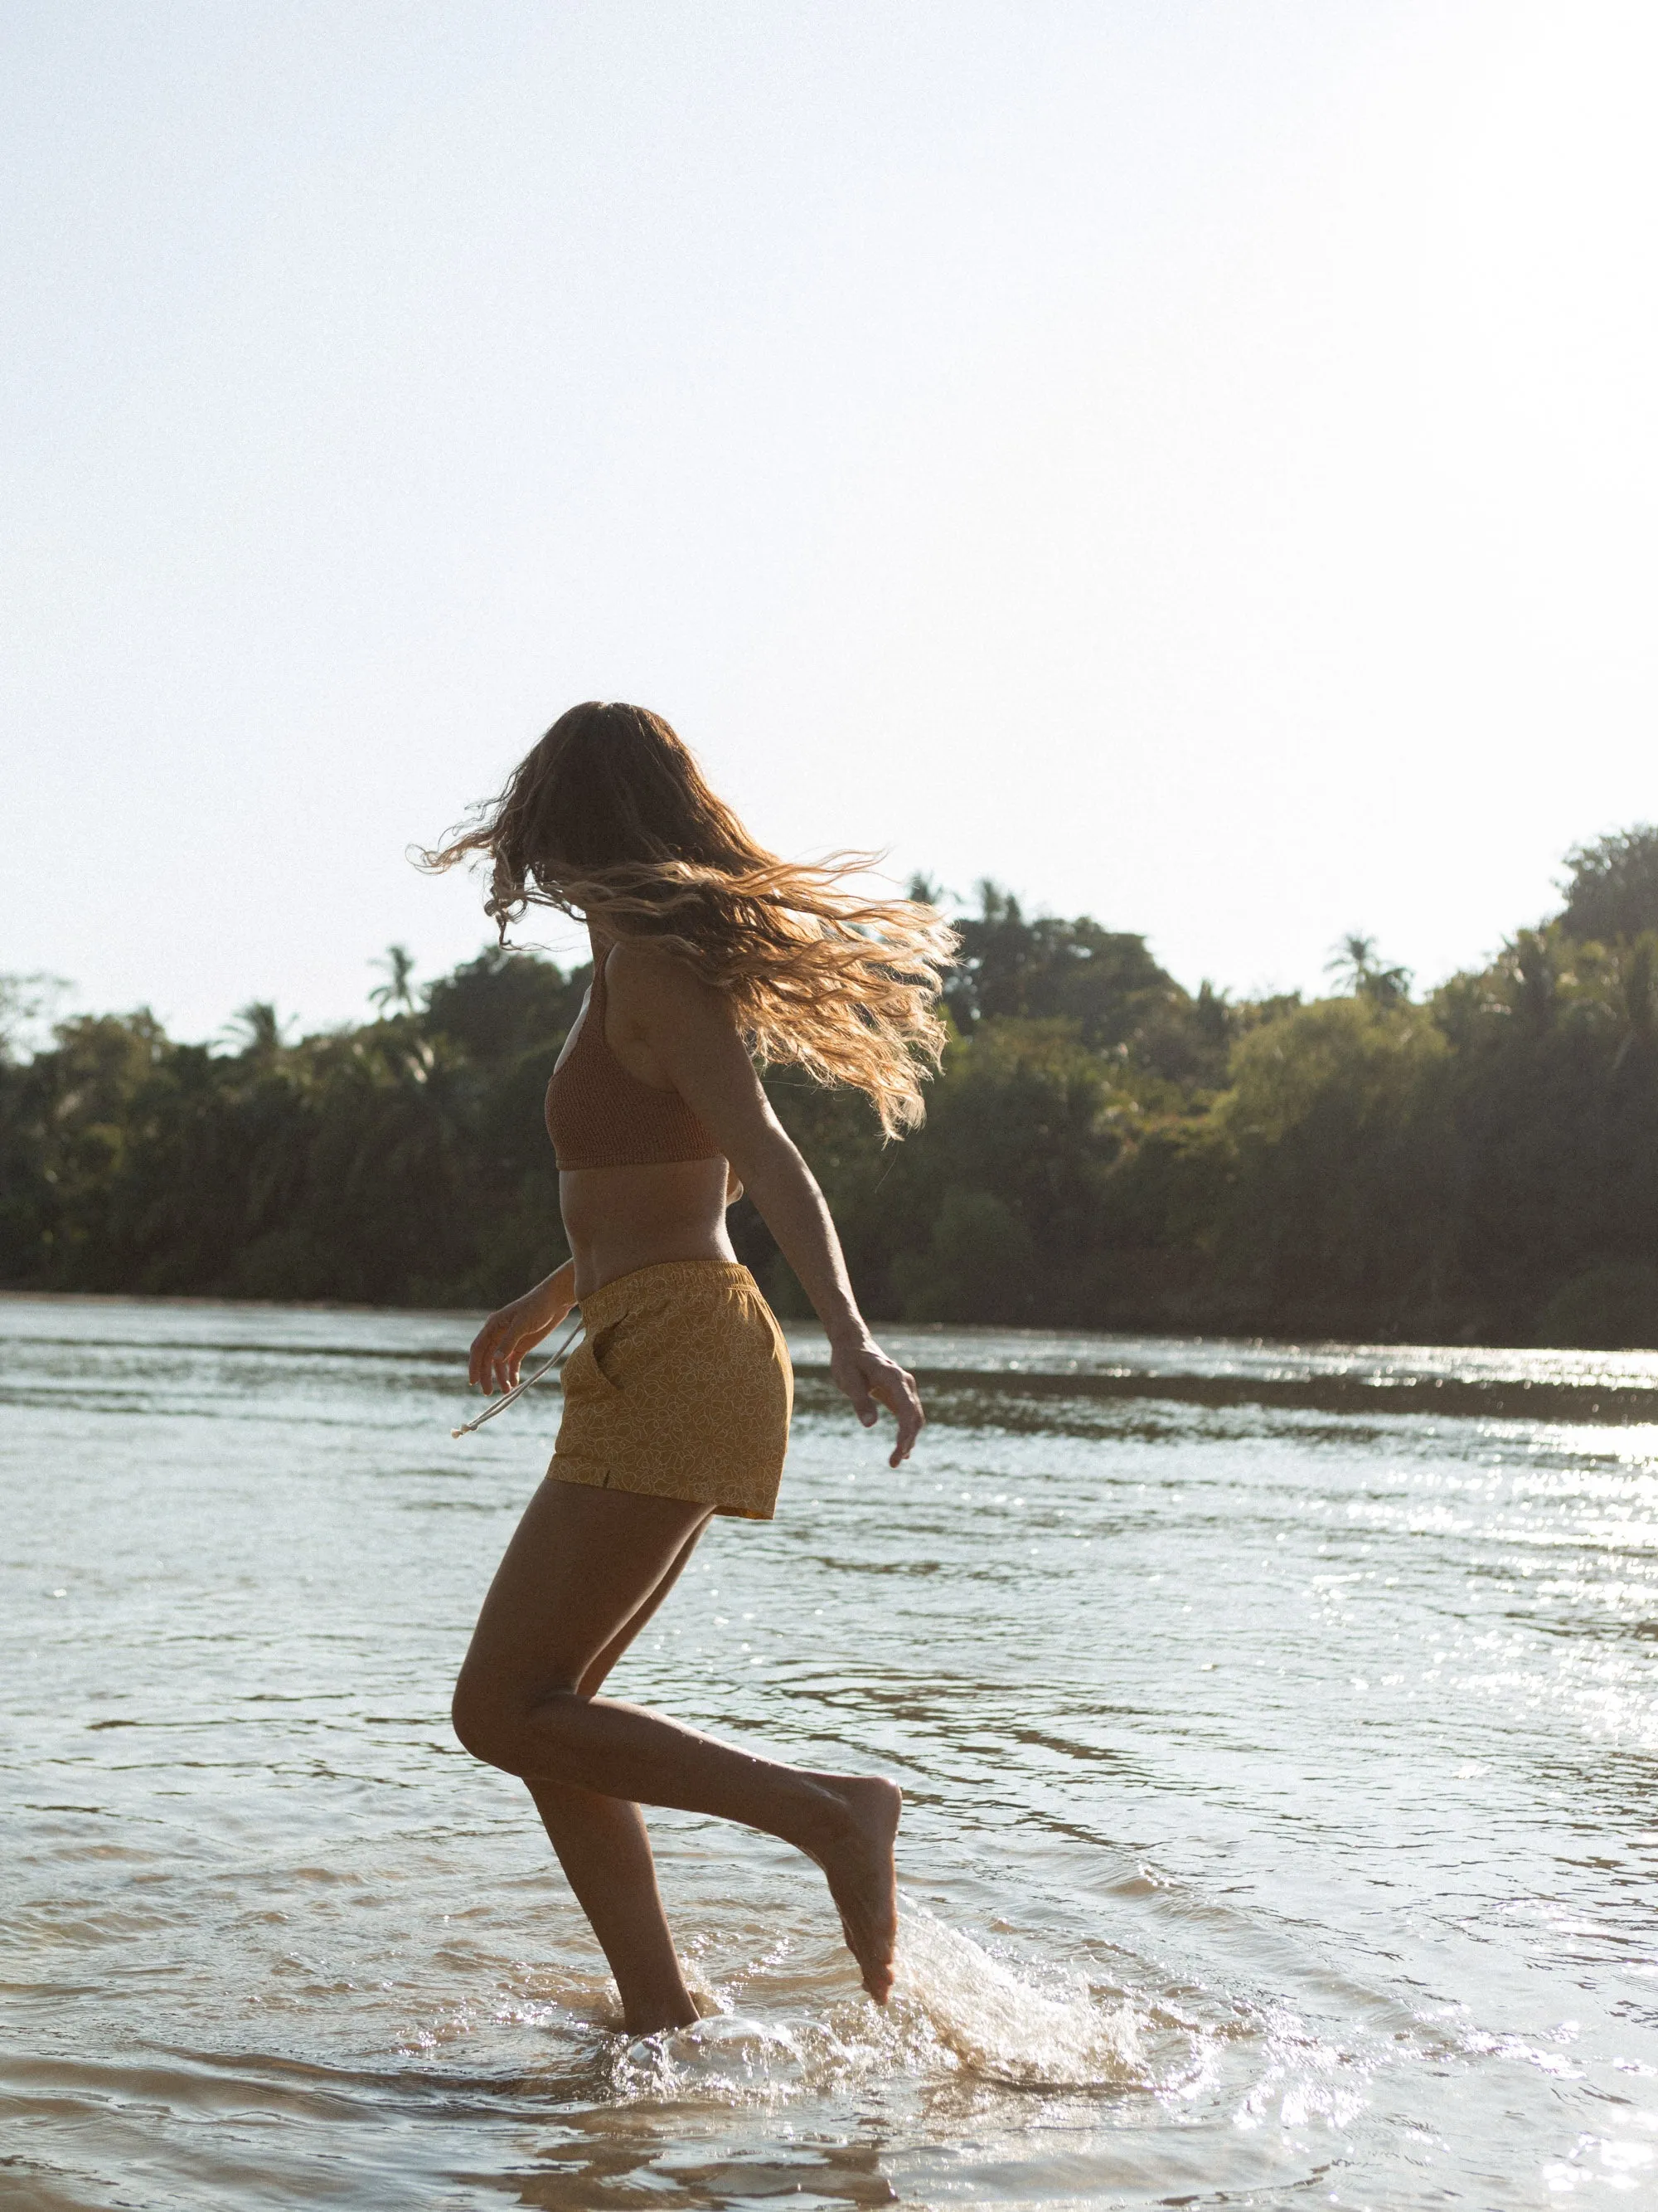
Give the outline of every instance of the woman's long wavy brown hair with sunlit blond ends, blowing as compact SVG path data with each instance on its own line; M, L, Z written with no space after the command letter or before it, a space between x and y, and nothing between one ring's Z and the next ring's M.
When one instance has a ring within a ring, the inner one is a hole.
M765 852L661 714L573 706L506 790L420 858L429 869L489 858L484 911L502 942L526 907L650 938L725 993L760 1062L864 1091L889 1137L922 1121L955 931L935 907L856 891L873 854Z

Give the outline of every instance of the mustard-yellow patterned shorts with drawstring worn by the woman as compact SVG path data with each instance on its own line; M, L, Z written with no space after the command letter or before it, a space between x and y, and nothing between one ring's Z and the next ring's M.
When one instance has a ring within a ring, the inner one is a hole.
M747 1267L672 1259L581 1301L548 1475L772 1520L794 1367Z

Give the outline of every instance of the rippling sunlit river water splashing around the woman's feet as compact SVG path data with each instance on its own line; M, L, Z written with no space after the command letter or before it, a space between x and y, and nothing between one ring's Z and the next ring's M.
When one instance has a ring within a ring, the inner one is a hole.
M659 1814L628 2042L447 1728L557 1418L466 1336L0 1301L2 2205L1658 2194L1658 1356L893 1332L893 1475L800 1334L615 1688L904 1783L900 1989Z

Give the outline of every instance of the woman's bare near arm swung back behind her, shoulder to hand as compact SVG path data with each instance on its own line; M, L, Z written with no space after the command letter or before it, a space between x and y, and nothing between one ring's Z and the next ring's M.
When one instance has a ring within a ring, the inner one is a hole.
M617 1011L657 1055L663 1073L738 1175L829 1336L829 1374L869 1429L884 1405L898 1420L891 1467L909 1458L922 1429L915 1378L869 1334L847 1279L840 1237L794 1139L772 1113L730 1009L692 971L639 942L610 956Z

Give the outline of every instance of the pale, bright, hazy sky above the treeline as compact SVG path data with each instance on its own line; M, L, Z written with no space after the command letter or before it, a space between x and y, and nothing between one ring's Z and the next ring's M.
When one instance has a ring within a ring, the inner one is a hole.
M588 697L1189 987L1481 962L1658 816L1656 64L1647 0L11 0L0 971L360 1018Z

